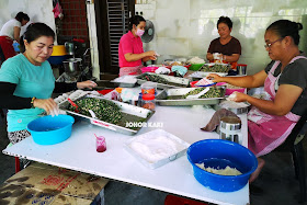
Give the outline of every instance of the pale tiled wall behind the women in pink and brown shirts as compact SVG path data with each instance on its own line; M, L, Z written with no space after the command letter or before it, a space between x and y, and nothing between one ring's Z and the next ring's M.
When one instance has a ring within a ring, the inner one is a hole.
M194 57L205 59L212 39L218 37L216 22L220 15L234 22L231 35L242 46L239 62L248 65L252 75L270 62L264 45L264 31L280 19L302 22L299 48L307 52L306 0L138 0L136 12L152 21L155 38L144 48L155 49L167 58Z

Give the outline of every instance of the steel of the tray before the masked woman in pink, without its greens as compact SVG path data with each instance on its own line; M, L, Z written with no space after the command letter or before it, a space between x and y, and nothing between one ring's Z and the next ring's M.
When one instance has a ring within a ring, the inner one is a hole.
M167 81L169 81L172 84L163 84L163 83L158 83L157 82L157 88L158 89L169 89L169 88L186 88L189 87L190 80L186 78L178 78L178 77L173 77L173 76L166 76L166 75L157 75L157 73L152 73L152 72L145 72L141 73L137 77L137 83L138 84L143 84L145 82L147 82L147 80L143 80L140 79L141 77L149 75L149 76L159 76L163 79L166 79Z

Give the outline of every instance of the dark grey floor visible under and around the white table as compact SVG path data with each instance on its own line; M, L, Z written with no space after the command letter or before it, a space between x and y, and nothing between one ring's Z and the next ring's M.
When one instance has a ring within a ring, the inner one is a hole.
M0 117L0 150L9 144L5 122ZM305 140L305 151L307 144ZM306 155L305 155L306 156ZM263 189L259 195L250 195L252 205L295 205L299 186L295 180L291 155L269 153L264 157L266 164L254 182ZM14 174L14 158L0 153L0 183ZM127 183L111 181L105 186L106 205L162 205L168 193L140 187ZM307 203L305 203L307 204Z

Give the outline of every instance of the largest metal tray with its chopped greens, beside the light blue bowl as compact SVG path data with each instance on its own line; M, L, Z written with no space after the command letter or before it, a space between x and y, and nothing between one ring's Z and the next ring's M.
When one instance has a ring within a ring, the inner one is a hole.
M68 101L61 103L59 109L76 119L87 121L125 135L135 135L155 113L155 111L91 94L73 102L78 105L78 113ZM95 117L89 110L93 111Z

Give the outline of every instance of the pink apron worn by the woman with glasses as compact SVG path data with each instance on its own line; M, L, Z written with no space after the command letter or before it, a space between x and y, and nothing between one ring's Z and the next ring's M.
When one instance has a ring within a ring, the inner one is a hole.
M306 57L297 56L289 64L299 58ZM264 91L269 93L271 101L274 101L276 95L275 81L278 80L280 75L274 77L273 73L278 65L280 61L275 61L264 81ZM252 106L248 113L249 149L257 157L271 152L284 143L299 118L300 116L292 112L284 116L277 116L263 113Z

